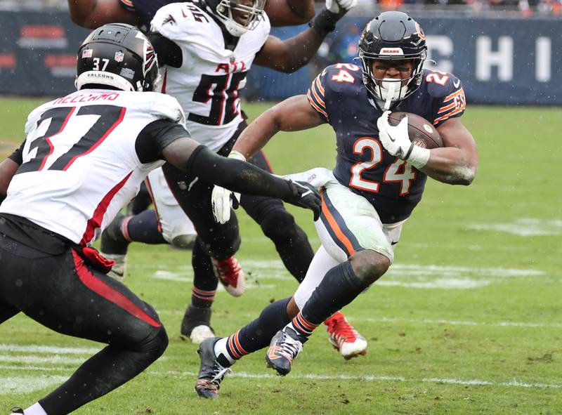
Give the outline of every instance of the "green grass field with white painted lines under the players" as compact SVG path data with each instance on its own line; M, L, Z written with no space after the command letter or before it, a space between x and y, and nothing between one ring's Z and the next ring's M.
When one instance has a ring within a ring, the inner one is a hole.
M0 100L5 154L19 145L37 103ZM268 106L246 109L254 118ZM190 253L134 244L126 282L157 308L169 348L77 414L561 414L562 110L469 107L463 119L478 142L476 180L470 187L429 180L393 267L344 310L369 341L365 357L344 361L320 327L286 378L266 369L264 352L254 353L233 367L220 399L202 400L193 391L197 346L179 336ZM327 127L280 134L266 152L277 173L331 168L335 140ZM311 214L290 210L317 247ZM242 298L217 294L219 335L296 288L273 245L239 216L237 256L250 284ZM23 315L5 322L0 414L36 402L98 349Z

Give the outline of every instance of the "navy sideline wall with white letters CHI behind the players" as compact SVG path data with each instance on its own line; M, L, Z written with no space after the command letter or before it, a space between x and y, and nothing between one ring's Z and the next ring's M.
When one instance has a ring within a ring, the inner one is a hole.
M429 44L431 69L462 79L469 103L562 105L562 22L550 18L504 19L447 16L419 18ZM316 74L333 62L339 44L354 53L367 18L344 18L325 45L324 55L294 74L254 66L243 95L280 100L306 93ZM0 94L61 95L72 91L79 44L88 30L61 11L0 11ZM306 26L274 28L287 38ZM335 58L341 61L340 58ZM351 60L347 60L351 62Z

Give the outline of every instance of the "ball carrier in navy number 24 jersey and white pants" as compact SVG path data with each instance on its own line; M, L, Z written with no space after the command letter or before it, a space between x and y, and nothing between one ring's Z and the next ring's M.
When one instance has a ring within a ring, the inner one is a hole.
M201 343L199 395L216 397L228 368L268 344L268 366L288 374L313 330L388 270L426 177L451 185L472 182L478 155L460 121L464 90L453 74L423 69L426 49L424 33L410 16L381 13L362 32L362 67L327 67L307 95L275 105L240 135L233 151L250 157L278 131L327 123L336 135L336 166L298 176L322 196L322 213L315 222L322 246L304 281L292 298L268 305L258 319L228 338ZM428 129L438 130L443 147L414 145L407 117L391 126L389 111L429 120L433 126Z

